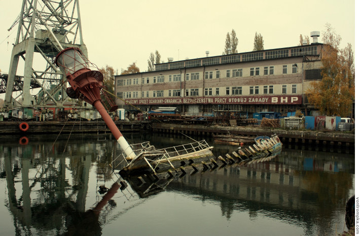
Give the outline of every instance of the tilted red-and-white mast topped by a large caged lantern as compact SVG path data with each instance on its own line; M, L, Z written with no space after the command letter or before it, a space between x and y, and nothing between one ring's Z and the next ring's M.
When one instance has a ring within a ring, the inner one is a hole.
M70 84L66 89L67 95L93 105L124 150L126 157L135 158L133 150L101 104L100 89L104 86L103 75L97 66L92 64L78 48L64 49L56 56L55 63L66 75Z

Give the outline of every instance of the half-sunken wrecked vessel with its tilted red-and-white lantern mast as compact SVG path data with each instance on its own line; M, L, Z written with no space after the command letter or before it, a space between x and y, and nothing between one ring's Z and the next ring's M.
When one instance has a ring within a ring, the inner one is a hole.
M101 104L100 92L104 87L103 75L96 65L89 62L78 48L62 50L56 56L55 62L66 75L70 84L70 87L66 89L68 97L83 99L92 104L118 141L123 153L120 155L120 163L116 163L118 160L116 159L111 166L115 170L120 164L125 164L124 167L121 166L123 167L121 175L152 174L158 178L158 173L167 173L173 176L174 173L171 170L174 170L175 173L181 171L186 174L186 167L198 171L197 164L201 164L203 170L207 170L217 168L218 161L223 162L224 165L235 163L234 158L237 159L237 162L253 161L267 158L281 151L281 142L277 135L258 137L252 147L248 146L238 150L237 153L233 152L233 157L226 154L225 159L219 156L216 160L211 152L213 147L209 146L205 140L159 150L156 150L149 142L129 145Z

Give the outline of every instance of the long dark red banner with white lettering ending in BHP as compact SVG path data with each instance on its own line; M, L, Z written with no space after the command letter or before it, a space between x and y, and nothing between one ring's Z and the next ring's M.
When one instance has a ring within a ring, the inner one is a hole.
M155 104L301 104L301 95L264 95L264 96L227 96L227 97L169 97L125 99L127 104L155 105Z

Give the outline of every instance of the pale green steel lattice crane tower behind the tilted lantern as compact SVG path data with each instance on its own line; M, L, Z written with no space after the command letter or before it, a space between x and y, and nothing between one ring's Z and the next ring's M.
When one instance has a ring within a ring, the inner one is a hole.
M79 0L23 0L21 12L9 31L16 25L5 106L63 107L67 99L66 77L55 65L56 55L64 48L75 47L87 56ZM23 63L19 63L20 60ZM21 81L16 73L22 64ZM30 89L34 87L41 89L31 94ZM14 97L14 88L20 90L17 97Z

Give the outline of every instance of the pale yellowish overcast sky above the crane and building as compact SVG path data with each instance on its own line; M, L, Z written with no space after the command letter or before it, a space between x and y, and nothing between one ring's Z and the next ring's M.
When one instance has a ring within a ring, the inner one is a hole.
M7 30L21 10L21 0L0 0L0 69L9 71L17 26ZM161 60L221 55L227 32L235 30L238 52L253 50L255 32L265 49L296 46L299 35L325 30L330 23L341 35L341 48L354 49L353 0L321 1L119 1L80 0L84 42L89 60L99 68L126 69L133 62L147 70L150 53ZM7 37L9 36L9 40ZM8 44L9 41L9 44ZM310 41L312 39L310 38ZM23 74L18 71L18 74Z

